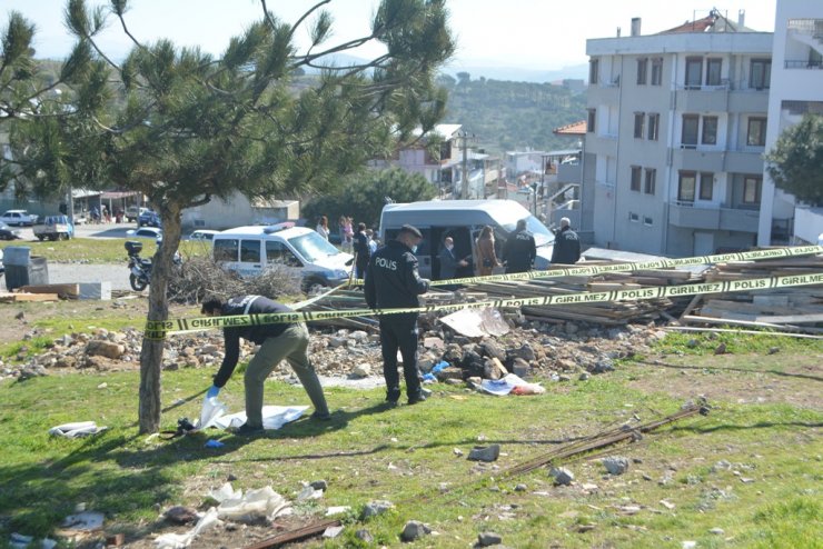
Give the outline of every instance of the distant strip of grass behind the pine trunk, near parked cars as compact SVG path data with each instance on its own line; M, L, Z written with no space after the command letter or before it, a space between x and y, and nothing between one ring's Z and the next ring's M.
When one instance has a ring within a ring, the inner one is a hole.
M157 249L155 241L148 238L142 238L140 241L143 244L141 256L152 256ZM73 238L57 242L12 240L0 242L0 249L9 246L28 246L31 248L32 256L44 257L47 261L54 262L119 263L127 259L123 242L126 239L122 238ZM184 257L206 256L209 252L208 242L192 240L180 242L180 253Z

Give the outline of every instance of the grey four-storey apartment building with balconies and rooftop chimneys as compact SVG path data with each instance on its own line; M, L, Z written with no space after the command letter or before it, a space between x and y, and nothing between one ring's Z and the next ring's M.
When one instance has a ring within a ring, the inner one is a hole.
M772 33L717 10L647 36L636 18L586 53L595 244L674 257L754 246Z

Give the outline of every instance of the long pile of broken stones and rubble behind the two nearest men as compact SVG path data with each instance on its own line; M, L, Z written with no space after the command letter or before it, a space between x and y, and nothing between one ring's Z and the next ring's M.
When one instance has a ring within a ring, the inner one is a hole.
M613 369L613 361L635 352L663 338L663 330L650 325L603 327L585 322L563 325L529 321L519 313L506 315L512 330L497 337L467 338L437 321L434 316L420 318L419 365L423 373L436 365L449 368L437 372L442 381L469 378L499 379L508 372L541 376L554 380L571 379ZM381 376L383 358L379 333L359 329L313 327L311 361L321 376L358 378ZM47 336L34 329L23 338L31 341ZM24 345L18 356L0 362L0 377L27 379L56 371L117 371L139 368L142 332L135 329L110 331L95 329L61 336L42 352L29 356ZM34 343L32 342L32 348ZM242 357L256 350L244 342ZM166 341L162 368L217 369L224 357L220 331L171 336ZM294 372L281 362L272 372L279 379L291 379Z

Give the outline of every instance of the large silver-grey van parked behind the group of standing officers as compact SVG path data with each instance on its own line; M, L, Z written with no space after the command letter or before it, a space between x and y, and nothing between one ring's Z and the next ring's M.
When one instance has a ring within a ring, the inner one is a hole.
M495 251L500 258L508 234L520 219L526 220L527 229L537 244L535 269L547 269L552 260L554 234L514 200L430 200L386 204L380 214L380 239L387 242L397 236L404 224L415 226L423 233L416 252L420 276L438 280L440 264L437 256L446 237L454 239L457 258L473 258L475 239L484 226L490 226L495 233ZM474 262L469 263L457 270L456 278L474 274Z

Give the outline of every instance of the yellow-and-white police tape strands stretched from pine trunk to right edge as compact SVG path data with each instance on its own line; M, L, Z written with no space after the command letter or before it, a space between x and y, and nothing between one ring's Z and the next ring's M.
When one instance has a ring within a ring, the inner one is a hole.
M694 264L706 264L725 261L756 261L763 259L775 259L797 256L809 256L822 253L821 246L804 246L795 248L775 248L769 250L755 250L740 253L724 253L720 256L703 256L694 258L662 259L639 263L617 263L601 264L591 267L573 267L568 269L557 269L552 271L533 271L517 274L496 274L492 277L473 277L464 279L454 279L447 281L437 281L434 285L443 283L463 283L487 282L492 280L523 280L533 278L547 277L567 277L574 274L599 274L603 272L633 271L642 269L660 269L671 267L683 267ZM568 303L593 303L607 301L636 301L642 299L658 299L678 296L695 296L697 293L718 293L735 292L748 290L766 290L773 288L787 288L793 286L809 286L823 283L823 273L812 274L791 274L785 277L757 278L747 280L725 280L716 282L701 282L694 285L661 286L654 288L636 288L626 290L612 290L601 292L577 292L563 296L543 296L529 298L512 299L489 299L472 303L452 303L452 305L430 305L417 308L404 309L346 309L341 311L291 311L262 315L237 315L230 317L205 317L192 319L170 319L165 321L146 322L145 337L148 339L163 339L167 335L182 333L190 331L205 331L218 328L260 326L282 322L307 322L311 320L328 320L336 318L364 317L371 315L400 315L408 312L434 312L434 311L456 311L460 309L484 309L486 307L523 307L523 306L551 306ZM339 287L338 287L339 288ZM296 308L310 305L321 299L337 288L298 303Z

